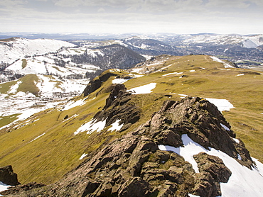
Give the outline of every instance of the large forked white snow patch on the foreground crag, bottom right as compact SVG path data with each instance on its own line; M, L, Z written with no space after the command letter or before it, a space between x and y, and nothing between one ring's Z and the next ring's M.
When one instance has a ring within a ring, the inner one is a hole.
M222 159L225 166L230 169L232 175L227 183L220 183L222 197L232 197L232 196L262 196L263 193L263 164L255 159L257 166L253 167L252 170L247 167L242 166L235 159L221 152L220 150L215 150L210 148L206 150L204 147L200 146L198 143L193 142L193 140L188 137L187 134L182 135L184 147L171 147L166 145L159 145L160 150L174 151L181 155L193 165L193 169L196 169L197 164L193 159L194 154L199 152L205 152L210 155L214 155Z

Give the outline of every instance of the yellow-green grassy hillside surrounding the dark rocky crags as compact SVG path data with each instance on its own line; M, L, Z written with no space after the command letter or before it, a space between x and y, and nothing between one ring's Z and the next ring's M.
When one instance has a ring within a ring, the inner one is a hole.
M102 110L115 79L112 76L89 96L69 101L84 103L82 106L65 107L65 110L52 108L1 130L0 166L11 164L22 184L58 181L82 162L82 154L92 154L103 142L114 140L145 123L159 110L163 101L181 99L179 94L230 101L235 108L224 111L223 115L237 133L237 138L245 142L252 157L263 162L262 74L248 69L225 69L223 64L204 55L165 56L151 67L155 72L124 83L127 89L156 83L151 94L132 95L129 102L139 106L141 118L125 132L111 132L104 128L100 133L74 135L81 125ZM119 70L114 73L119 76L129 74Z

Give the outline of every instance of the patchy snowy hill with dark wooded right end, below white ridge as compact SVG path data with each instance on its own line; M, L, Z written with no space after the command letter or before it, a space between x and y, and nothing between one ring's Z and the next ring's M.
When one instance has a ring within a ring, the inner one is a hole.
M23 57L9 64L5 71L15 74L51 74L67 78L92 78L95 72L109 68L129 68L145 58L122 45L97 49L63 47L45 55ZM91 73L91 74L90 74Z

